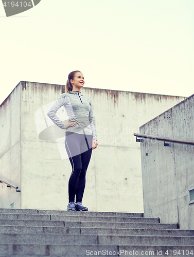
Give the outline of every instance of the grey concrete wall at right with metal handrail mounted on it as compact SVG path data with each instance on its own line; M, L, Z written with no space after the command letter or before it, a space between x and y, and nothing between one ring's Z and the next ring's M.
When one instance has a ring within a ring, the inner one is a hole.
M143 126L142 134L194 140L194 95L168 109ZM148 133L149 132L149 133ZM194 146L145 140L140 143L145 217L161 223L178 223L194 229L194 203L188 189L194 187Z

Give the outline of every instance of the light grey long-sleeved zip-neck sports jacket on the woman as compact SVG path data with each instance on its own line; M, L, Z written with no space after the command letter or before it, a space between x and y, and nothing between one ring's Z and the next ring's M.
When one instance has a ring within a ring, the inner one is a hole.
M68 115L68 121L65 124L57 117L56 113L59 108L65 107ZM96 120L93 112L91 99L85 97L80 91L70 91L62 94L47 113L48 117L60 128L65 130L65 125L70 120L75 120L76 126L69 126L66 131L93 135L93 139L97 140Z

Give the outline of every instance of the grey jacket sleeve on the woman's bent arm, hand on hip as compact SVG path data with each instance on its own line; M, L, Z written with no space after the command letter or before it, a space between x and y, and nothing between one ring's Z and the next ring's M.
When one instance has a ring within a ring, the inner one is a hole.
M59 108L61 108L66 103L66 97L61 95L55 103L52 105L52 107L49 109L47 115L48 117L60 128L65 130L65 124L57 117L56 113Z

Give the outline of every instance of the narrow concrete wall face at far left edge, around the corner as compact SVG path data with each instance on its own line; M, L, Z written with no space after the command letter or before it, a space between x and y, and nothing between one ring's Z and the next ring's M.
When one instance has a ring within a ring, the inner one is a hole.
M0 179L21 189L21 87L0 106ZM0 183L0 208L21 208L21 193Z

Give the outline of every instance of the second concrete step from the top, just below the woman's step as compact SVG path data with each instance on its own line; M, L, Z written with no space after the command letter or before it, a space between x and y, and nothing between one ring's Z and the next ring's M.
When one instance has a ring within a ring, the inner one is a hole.
M83 213L83 212L81 212ZM10 214L0 213L1 219L31 220L31 221L93 221L93 222L143 222L158 223L158 218L112 217L112 216L85 216L81 215L48 215L48 214Z

